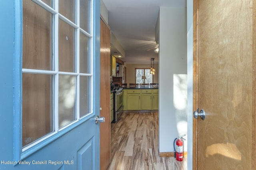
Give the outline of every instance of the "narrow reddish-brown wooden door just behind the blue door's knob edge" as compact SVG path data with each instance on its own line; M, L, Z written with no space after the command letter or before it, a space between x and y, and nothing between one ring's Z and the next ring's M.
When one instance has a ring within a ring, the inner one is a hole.
M110 29L100 20L100 169L110 164Z

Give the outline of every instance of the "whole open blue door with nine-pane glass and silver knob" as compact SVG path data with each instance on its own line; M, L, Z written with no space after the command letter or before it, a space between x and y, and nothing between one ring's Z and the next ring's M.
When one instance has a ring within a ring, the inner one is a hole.
M100 1L0 4L0 169L100 169Z

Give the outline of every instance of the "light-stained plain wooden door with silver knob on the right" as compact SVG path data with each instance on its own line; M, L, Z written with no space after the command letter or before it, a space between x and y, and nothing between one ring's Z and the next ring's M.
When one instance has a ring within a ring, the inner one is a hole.
M255 168L255 0L194 0L193 169Z

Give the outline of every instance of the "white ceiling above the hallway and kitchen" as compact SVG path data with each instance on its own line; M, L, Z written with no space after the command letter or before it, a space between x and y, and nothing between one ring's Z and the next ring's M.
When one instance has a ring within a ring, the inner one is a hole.
M186 7L186 0L103 0L108 9L108 25L125 51L122 61L150 63L154 49L159 7ZM114 50L111 50L114 53Z

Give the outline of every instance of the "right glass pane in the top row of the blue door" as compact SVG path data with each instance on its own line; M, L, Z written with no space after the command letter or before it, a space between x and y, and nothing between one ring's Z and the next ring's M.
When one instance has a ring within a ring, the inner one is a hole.
M80 0L80 27L90 33L90 0Z

